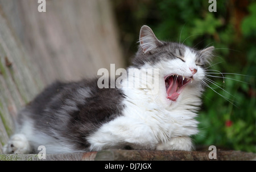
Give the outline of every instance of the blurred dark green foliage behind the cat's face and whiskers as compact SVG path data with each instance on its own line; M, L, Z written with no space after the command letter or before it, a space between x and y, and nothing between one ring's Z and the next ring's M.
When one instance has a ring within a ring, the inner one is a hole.
M131 10L137 14L133 23L121 29L147 24L160 40L197 49L213 45L216 56L209 69L237 75L210 74L220 78L209 77L216 85L209 83L212 89L204 93L195 143L256 152L256 3L217 1L217 12L209 12L209 5L208 1L138 1Z

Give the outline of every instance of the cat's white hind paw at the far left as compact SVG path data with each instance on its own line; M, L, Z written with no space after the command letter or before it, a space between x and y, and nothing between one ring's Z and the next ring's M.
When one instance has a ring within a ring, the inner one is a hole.
M30 153L30 144L25 135L15 134L3 147L3 153L24 154Z

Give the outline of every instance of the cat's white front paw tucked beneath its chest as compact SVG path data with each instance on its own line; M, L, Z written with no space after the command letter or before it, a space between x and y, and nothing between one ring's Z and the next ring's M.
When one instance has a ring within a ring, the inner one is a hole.
M156 150L192 151L193 144L188 136L172 137L166 143L159 143Z

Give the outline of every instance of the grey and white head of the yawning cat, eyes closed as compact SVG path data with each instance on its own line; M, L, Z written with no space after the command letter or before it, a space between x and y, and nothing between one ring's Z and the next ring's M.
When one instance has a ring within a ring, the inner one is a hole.
M205 77L204 68L209 64L213 49L210 46L196 50L175 42L159 41L152 29L143 25L133 65L138 68L158 68L159 94L167 101L177 102L188 91L203 91L201 81Z

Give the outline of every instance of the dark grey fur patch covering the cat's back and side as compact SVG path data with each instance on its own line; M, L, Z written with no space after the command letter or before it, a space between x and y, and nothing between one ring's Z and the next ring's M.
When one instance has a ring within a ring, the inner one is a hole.
M122 115L123 98L120 89L98 88L97 79L56 82L20 112L18 123L22 126L23 119L31 120L37 132L86 151L86 136Z

